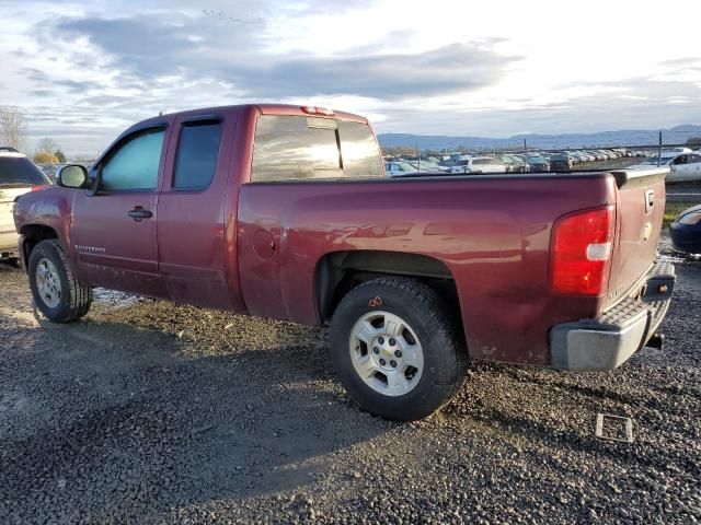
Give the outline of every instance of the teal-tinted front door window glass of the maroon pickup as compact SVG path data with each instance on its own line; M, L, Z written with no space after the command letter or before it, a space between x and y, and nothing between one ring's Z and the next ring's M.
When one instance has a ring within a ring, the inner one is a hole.
M164 135L163 128L156 128L127 138L102 166L100 189L156 189Z

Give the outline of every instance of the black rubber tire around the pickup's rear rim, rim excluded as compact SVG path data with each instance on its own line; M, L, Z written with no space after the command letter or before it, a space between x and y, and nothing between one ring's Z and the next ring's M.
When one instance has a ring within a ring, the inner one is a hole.
M421 343L423 372L406 394L389 396L377 392L353 364L353 327L376 311L404 319ZM330 340L334 368L350 398L365 410L394 421L423 419L445 406L462 386L468 368L457 318L458 312L450 312L434 289L413 279L375 279L348 292L333 315Z

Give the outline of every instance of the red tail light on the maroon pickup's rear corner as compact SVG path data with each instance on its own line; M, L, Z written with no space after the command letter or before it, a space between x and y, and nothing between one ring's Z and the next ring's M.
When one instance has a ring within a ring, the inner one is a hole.
M556 293L606 293L611 271L616 207L579 211L559 219L551 248L551 285Z

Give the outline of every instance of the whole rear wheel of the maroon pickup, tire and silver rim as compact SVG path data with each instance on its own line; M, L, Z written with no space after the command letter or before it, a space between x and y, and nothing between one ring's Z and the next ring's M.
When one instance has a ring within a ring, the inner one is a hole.
M350 398L397 421L440 409L467 372L455 317L434 289L413 279L375 279L352 290L330 334L334 368Z

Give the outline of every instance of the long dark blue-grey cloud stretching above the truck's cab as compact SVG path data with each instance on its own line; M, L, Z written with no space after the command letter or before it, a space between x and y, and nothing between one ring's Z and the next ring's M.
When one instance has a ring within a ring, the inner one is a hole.
M231 82L242 95L260 97L456 93L498 81L505 68L519 59L483 43L456 43L414 54L279 56L256 50L252 28L231 35L217 27L212 35L208 24L183 15L166 21L87 18L59 21L55 34L88 37L123 72L141 81L169 74L214 78ZM219 51L222 46L228 52Z

